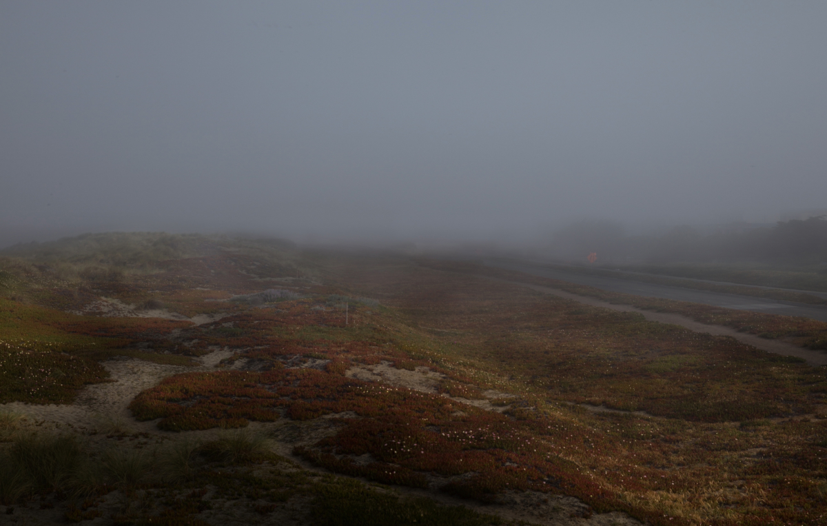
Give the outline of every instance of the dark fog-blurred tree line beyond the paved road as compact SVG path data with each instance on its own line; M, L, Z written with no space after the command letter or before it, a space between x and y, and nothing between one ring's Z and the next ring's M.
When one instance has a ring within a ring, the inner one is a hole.
M583 221L552 236L553 256L600 263L758 261L796 265L827 264L827 216L777 222L772 227L729 225L711 233L673 227L661 235L628 236L617 222Z

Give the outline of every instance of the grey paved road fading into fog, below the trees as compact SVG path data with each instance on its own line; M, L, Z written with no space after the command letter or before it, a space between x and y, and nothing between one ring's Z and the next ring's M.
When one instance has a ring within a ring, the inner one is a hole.
M554 280L570 281L580 285L590 285L597 289L635 294L652 298L677 299L691 301L696 304L715 305L717 307L752 310L759 313L784 314L786 316L803 316L827 322L827 307L816 307L807 304L793 304L778 302L772 299L754 298L739 294L723 294L707 292L705 290L684 289L671 285L657 285L641 283L639 281L620 280L606 276L577 274L564 270L549 269L543 265L528 262L488 260L485 265L498 266L509 270L519 270L526 274L543 276Z

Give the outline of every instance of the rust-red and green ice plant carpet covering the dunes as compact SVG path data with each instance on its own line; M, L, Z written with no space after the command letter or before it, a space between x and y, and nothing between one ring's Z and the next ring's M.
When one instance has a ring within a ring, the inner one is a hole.
M347 524L336 522L347 513L358 522L368 511L348 508L347 495L420 514L424 524L450 514L454 523L442 524L498 520L398 501L383 493L390 490L347 479L357 476L491 510L514 495L571 495L595 513L620 511L650 524L827 521L824 368L487 277L685 313L816 348L825 323L612 295L466 263L151 236L115 241L152 247L161 240L160 256L124 249L131 256L117 259L96 238L92 248L88 239L81 248L64 241L46 252L47 263L43 249L0 263L0 402L70 404L84 385L107 381L101 364L112 356L183 365L218 352L218 367L170 375L131 400L133 418L153 423L155 434L82 435L81 442L98 444L91 450L103 440L150 451L255 423L289 446L285 454L295 461L345 478L286 468L290 461L271 452L236 465L202 444L184 457L188 476L147 476L129 488L101 479L83 499L30 484L14 497L18 505L53 495L74 506L67 517L91 516L115 490L151 504L118 511L124 524L211 524L218 519L209 500L220 490L258 518L299 506L298 520L308 524ZM115 262L106 266L84 250ZM61 262L61 254L71 257ZM84 266L89 261L96 270ZM84 311L101 299L120 302L117 317ZM433 380L413 388L354 374L379 366ZM290 426L324 432L293 439L284 431ZM6 440L3 454L13 455L14 434ZM162 498L163 488L179 496ZM414 515L387 514L397 521L387 524L413 524Z

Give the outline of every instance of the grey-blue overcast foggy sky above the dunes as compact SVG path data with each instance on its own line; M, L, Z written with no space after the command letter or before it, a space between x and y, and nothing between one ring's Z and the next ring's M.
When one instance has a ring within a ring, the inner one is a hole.
M0 2L0 246L827 207L827 2Z

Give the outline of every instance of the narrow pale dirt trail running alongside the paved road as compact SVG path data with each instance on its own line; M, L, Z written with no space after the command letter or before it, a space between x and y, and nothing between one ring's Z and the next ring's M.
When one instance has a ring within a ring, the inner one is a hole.
M696 322L692 318L681 316L681 314L656 313L651 310L643 310L643 308L636 308L631 305L609 304L608 302L600 301L600 299L571 294L570 292L565 292L560 289L554 289L543 285L532 285L528 283L520 283L519 281L497 280L495 278L489 279L500 281L502 283L509 283L511 285L527 287L528 289L537 290L538 292L543 292L545 294L554 294L560 298L573 299L581 304L610 308L612 310L619 310L622 312L640 313L643 314L643 317L648 319L650 322L672 323L695 332L707 332L715 336L734 337L739 342L746 343L747 345L751 345L761 349L762 351L785 356L796 356L805 360L808 364L810 364L810 366L827 366L827 353L825 352L812 351L782 340L767 340L766 338L758 337L754 334L748 334L746 332L738 332L734 328L724 327L722 325L707 325L705 323Z

